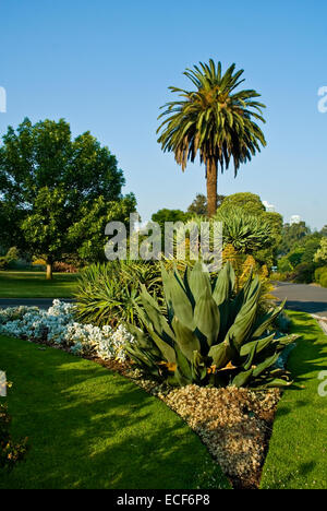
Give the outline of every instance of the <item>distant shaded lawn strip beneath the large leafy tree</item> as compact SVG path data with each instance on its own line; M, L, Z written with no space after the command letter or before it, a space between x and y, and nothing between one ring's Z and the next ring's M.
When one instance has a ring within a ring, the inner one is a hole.
M52 281L43 272L0 272L0 298L71 298L77 274L55 273Z

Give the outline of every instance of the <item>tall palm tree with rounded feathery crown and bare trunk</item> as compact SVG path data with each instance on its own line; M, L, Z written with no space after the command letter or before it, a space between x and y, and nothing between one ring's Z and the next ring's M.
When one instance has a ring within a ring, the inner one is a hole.
M210 59L208 64L199 62L199 68L194 66L183 74L196 90L169 87L180 99L161 107L165 111L158 119L166 119L157 130L161 131L158 142L165 152L174 153L183 171L187 159L193 163L199 153L206 166L208 215L213 216L217 210L218 165L223 173L232 158L237 176L240 165L261 151L259 144L266 145L264 133L253 120L265 122L265 105L253 100L259 96L256 91L234 92L244 82L240 80L243 70L235 72L235 64L222 74L221 63L216 66Z

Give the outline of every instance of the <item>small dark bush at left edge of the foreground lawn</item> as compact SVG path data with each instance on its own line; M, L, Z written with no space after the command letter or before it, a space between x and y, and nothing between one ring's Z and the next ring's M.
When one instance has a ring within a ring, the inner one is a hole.
M0 404L0 468L12 470L26 453L27 439L14 442L10 433L11 417L5 404Z

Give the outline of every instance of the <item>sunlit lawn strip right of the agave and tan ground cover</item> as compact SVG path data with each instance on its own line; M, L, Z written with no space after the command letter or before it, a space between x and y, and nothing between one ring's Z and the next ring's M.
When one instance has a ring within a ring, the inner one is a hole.
M298 341L289 370L304 389L289 389L279 403L262 488L327 489L327 396L318 373L327 370L327 337L302 312L288 312Z

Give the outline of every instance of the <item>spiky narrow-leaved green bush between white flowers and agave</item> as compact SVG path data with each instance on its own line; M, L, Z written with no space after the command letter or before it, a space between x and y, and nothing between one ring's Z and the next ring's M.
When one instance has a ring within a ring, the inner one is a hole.
M117 260L92 264L81 272L77 281L76 316L78 320L98 326L137 322L135 304L141 302L141 285L145 284L160 299L160 283L157 262Z

